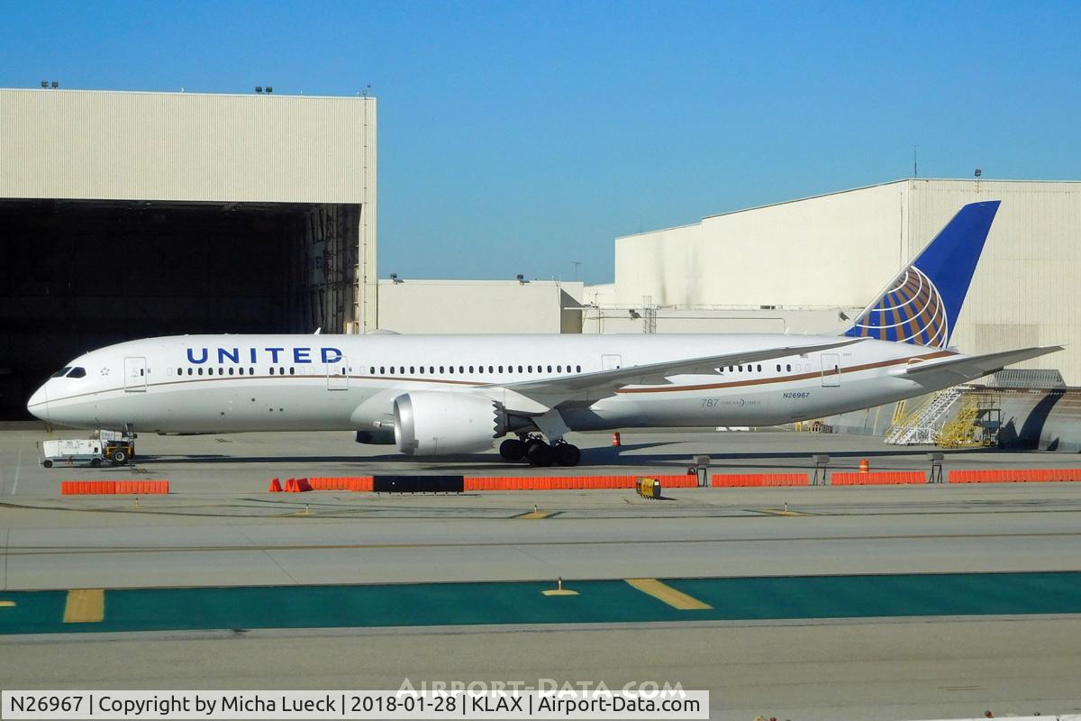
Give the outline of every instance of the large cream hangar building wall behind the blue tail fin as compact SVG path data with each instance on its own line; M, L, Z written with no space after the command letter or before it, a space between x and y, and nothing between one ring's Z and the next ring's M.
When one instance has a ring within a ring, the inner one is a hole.
M953 345L978 353L1068 344L1018 368L1058 368L1067 384L1081 385L1078 182L906 179L709 216L617 239L615 283L600 295L619 308L650 296L658 317L742 308L825 323L790 330L837 332L837 311L863 308L961 205L978 200L1002 205ZM836 310L819 312L826 308Z

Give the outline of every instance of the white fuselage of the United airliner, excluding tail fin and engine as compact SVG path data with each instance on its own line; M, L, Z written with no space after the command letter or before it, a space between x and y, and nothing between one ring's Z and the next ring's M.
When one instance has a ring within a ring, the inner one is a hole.
M683 358L837 341L791 335L201 335L133 341L71 361L28 409L54 424L160 432L387 428L410 391L470 392ZM869 408L946 387L946 373L905 376L953 351L865 341L626 386L560 408L571 430L766 426ZM508 403L511 406L512 403Z

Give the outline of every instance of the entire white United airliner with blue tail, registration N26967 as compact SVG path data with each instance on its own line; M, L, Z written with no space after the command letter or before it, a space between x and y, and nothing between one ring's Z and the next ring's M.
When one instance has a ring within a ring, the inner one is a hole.
M573 466L569 431L770 426L920 396L1044 353L949 347L998 201L965 205L843 335L185 335L85 353L30 398L49 424L351 430L410 455Z

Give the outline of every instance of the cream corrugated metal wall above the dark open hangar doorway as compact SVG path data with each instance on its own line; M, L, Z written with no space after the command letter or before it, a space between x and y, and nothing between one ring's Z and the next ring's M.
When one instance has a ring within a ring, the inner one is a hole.
M0 197L361 203L374 104L3 90Z

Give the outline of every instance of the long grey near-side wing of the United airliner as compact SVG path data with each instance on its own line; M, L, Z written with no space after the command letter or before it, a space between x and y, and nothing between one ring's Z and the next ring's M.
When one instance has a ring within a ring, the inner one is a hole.
M548 408L555 408L566 401L590 404L602 398L614 396L616 389L624 386L663 385L670 383L668 378L673 375L716 374L716 369L722 365L742 365L772 360L774 358L843 348L844 346L860 343L862 341L863 338L844 338L843 341L814 345L774 346L772 348L745 350L723 356L682 358L662 363L620 368L612 371L580 373L561 378L501 384L499 387L525 396Z

